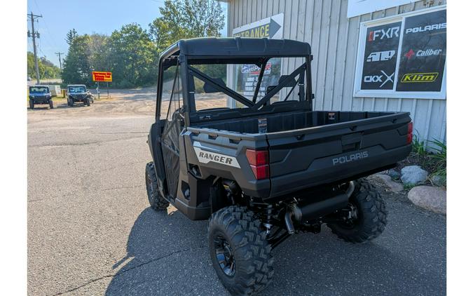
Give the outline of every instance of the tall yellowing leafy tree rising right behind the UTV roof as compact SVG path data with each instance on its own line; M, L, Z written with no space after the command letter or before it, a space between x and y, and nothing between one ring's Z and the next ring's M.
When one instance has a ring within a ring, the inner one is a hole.
M179 39L220 36L225 25L224 9L214 0L166 0L159 11L149 24L159 52Z

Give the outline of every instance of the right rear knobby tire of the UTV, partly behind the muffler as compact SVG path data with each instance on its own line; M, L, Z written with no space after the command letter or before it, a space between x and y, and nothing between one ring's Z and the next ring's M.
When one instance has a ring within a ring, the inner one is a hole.
M385 229L388 210L375 187L364 178L355 181L349 202L357 209L357 219L352 224L327 224L331 231L350 243L364 243L378 237Z

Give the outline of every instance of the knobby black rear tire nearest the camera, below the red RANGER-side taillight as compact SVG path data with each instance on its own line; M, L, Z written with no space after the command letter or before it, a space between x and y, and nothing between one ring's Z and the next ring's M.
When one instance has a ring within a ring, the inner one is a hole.
M221 283L232 295L260 292L273 278L274 259L270 254L271 247L266 241L266 233L260 226L261 221L247 208L240 206L222 208L210 217L210 259ZM222 240L227 243L230 251L225 255L220 254L218 259L217 252L222 249ZM231 253L228 259L233 259L233 274L232 264L224 263L228 253ZM221 267L221 264L226 264L228 268Z

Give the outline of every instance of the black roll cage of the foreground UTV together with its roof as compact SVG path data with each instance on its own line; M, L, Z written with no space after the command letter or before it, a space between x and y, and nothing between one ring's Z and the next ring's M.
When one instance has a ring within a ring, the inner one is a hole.
M302 65L287 75L281 75L276 86L266 88L266 93L257 100L266 63L270 58L303 58ZM158 74L158 92L156 104L156 121L160 120L160 110L163 93L163 72L172 66L177 66L174 80L181 77L183 106L179 113L184 118L185 126L210 119L227 119L248 116L265 112L275 112L275 109L312 109L312 86L310 83L310 46L308 43L293 40L249 39L249 38L202 38L187 39L174 43L160 56ZM211 64L254 64L259 67L258 79L252 99L228 88L224 81L215 79L195 67L196 65ZM177 75L179 72L179 76ZM205 83L207 88L224 93L247 108L242 109L206 109L196 110L195 86L193 77ZM296 79L297 78L297 79ZM307 83L304 83L306 78ZM175 81L174 81L175 83ZM173 85L174 85L173 83ZM271 97L282 88L289 87L284 100L287 100L293 90L299 86L299 102L296 104L270 107ZM174 86L173 86L174 88ZM170 100L173 100L171 96Z

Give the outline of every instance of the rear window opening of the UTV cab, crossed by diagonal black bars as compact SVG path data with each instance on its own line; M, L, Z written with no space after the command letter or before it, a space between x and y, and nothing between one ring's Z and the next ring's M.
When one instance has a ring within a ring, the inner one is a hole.
M197 112L222 106L257 110L275 102L306 100L306 58L260 58L239 64L204 62L209 61L190 61L188 66L194 88L189 91L194 94Z

